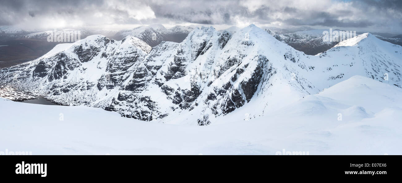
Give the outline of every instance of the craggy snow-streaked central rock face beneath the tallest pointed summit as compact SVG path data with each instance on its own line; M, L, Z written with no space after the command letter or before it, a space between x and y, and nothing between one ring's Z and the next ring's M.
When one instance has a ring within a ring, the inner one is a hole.
M252 101L261 88L271 86L271 77L278 70L273 64L285 59L277 59L281 53L269 56L261 49L264 43L258 43L258 37L266 36L254 25L236 35L202 27L182 43L163 42L131 68L134 74L110 109L142 120L210 124ZM268 37L269 41L276 40ZM302 88L303 83L294 85Z

